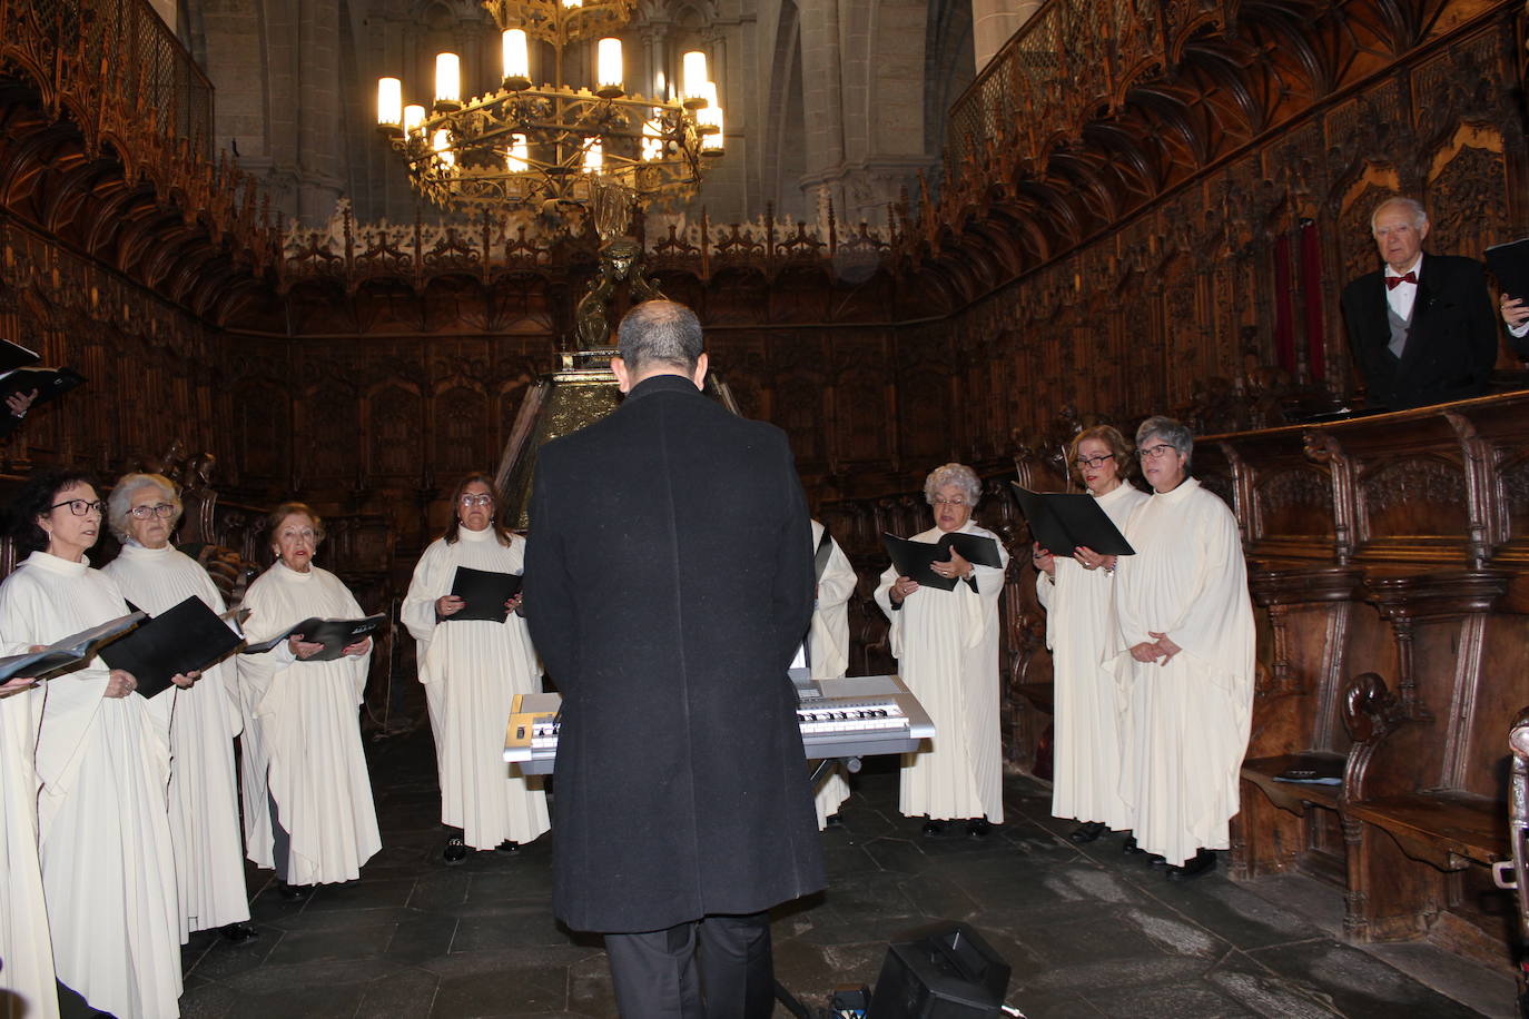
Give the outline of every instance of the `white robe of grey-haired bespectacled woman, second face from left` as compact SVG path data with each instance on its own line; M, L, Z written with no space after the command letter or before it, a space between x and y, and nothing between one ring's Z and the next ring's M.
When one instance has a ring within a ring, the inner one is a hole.
M191 596L214 613L225 610L206 570L173 545L124 544L101 571L151 616ZM249 920L234 779L234 736L245 727L237 683L234 662L214 665L196 686L176 694L170 721L170 840L182 943L193 930Z

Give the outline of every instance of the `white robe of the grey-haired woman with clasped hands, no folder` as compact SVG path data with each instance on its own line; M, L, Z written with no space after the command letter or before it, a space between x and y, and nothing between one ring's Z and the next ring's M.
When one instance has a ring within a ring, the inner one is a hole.
M1254 622L1237 519L1187 478L1142 503L1125 526L1136 548L1115 571L1112 666L1125 742L1121 796L1136 843L1182 865L1229 846L1237 778L1248 750ZM1167 665L1130 648L1167 634Z

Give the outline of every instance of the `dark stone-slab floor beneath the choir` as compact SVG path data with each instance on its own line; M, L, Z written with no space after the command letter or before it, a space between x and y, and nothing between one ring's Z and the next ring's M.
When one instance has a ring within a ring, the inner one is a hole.
M295 904L251 871L261 937L197 935L183 1014L615 1016L599 940L552 920L550 840L446 868L428 732L370 756L384 849L358 883ZM823 836L829 891L775 921L780 981L818 1008L836 984L875 984L888 940L963 920L1012 966L1008 1002L1032 1019L1512 1014L1506 970L1428 946L1402 946L1393 966L1342 944L1338 895L1313 882L1168 883L1124 857L1119 836L1061 839L1070 825L1049 817L1038 784L1006 793L1008 822L986 840L931 840L896 813L890 767L867 767L844 827Z

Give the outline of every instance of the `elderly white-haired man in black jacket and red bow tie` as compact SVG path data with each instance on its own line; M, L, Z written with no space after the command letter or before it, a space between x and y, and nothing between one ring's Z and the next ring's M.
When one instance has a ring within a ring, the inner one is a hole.
M1390 409L1486 393L1497 362L1497 321L1474 258L1425 255L1428 212L1387 199L1370 217L1385 267L1342 292L1349 347L1370 403Z

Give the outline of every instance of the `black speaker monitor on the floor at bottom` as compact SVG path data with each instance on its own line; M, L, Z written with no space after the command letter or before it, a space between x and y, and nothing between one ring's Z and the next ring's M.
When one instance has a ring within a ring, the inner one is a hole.
M868 1019L979 1019L1001 1014L1009 964L963 923L893 941Z

